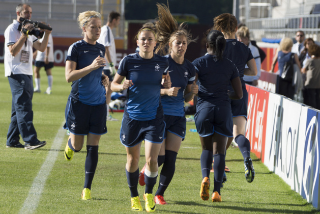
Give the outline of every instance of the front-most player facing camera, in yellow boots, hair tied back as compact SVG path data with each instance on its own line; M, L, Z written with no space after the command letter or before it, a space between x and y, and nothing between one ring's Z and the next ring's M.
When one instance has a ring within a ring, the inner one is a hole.
M141 142L144 140L146 189L143 198L146 210L155 211L152 194L158 176L158 154L164 137L164 116L160 100L161 82L163 87L171 87L168 75L168 60L154 54L155 33L142 28L137 35L137 53L122 59L111 83L111 90L120 92L128 89L128 102L122 119L121 143L127 152L126 175L131 192L131 209L142 211L138 194L139 158ZM126 80L123 82L124 78Z

